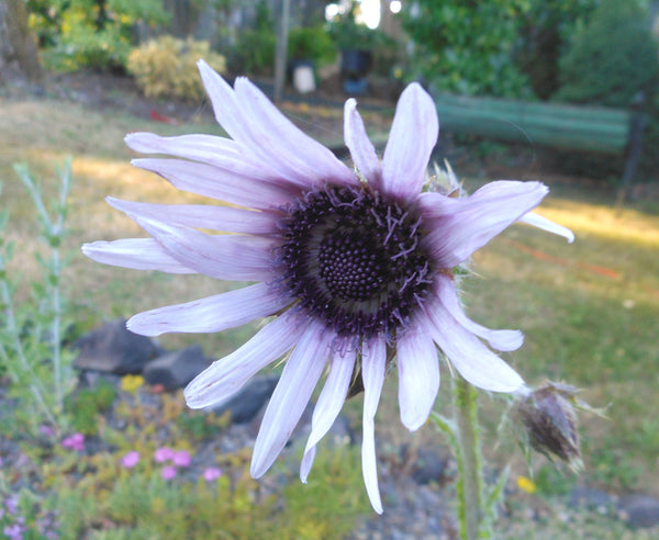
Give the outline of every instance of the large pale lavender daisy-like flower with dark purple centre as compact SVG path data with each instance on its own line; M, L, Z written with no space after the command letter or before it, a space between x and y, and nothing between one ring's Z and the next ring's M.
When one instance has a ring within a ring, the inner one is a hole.
M355 100L346 102L345 142L355 171L299 131L247 79L236 79L232 88L205 63L199 68L215 116L232 138L133 133L126 143L136 151L176 156L133 164L223 204L109 198L150 238L97 241L85 245L83 252L124 268L257 282L141 313L129 328L146 336L210 333L276 315L188 385L188 405L226 400L292 350L256 439L252 474L259 477L284 447L330 364L301 479L306 480L316 443L357 380L365 392L364 479L373 508L382 511L375 415L388 363L398 357L401 420L411 430L424 424L437 395L437 346L476 386L517 390L523 380L482 340L510 351L522 345L522 334L469 319L453 269L516 221L567 237L571 233L528 214L548 192L539 182L496 181L463 199L423 192L438 121L433 100L416 83L401 95L382 160Z

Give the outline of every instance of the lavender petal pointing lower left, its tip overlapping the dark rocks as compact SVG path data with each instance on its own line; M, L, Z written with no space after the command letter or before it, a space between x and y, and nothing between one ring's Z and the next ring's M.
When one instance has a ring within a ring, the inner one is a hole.
M304 326L288 314L264 326L256 336L188 384L183 394L191 408L217 405L234 395L263 368L273 362L295 345Z

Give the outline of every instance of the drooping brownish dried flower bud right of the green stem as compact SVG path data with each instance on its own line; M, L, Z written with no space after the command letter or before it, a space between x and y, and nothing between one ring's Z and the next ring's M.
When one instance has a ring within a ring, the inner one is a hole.
M582 462L576 394L573 386L548 382L526 394L514 410L532 448L548 458L560 458L572 470L579 471Z

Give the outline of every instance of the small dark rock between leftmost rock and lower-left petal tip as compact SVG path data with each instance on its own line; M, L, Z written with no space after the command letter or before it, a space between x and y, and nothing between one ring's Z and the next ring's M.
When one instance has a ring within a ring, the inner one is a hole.
M186 386L209 365L201 347L193 345L152 360L144 368L143 374L149 384L161 384L165 390L176 390Z

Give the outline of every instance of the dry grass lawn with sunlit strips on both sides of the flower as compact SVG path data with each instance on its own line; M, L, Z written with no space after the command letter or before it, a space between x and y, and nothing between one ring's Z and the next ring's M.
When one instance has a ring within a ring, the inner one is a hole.
M34 272L33 252L40 246L32 206L12 164L29 162L48 192L54 160L74 158L65 246L71 261L65 283L82 326L216 294L225 286L200 277L104 267L80 254L85 241L142 235L104 203L107 195L161 203L202 201L133 168L134 155L123 144L131 131L222 133L211 124L166 125L71 103L0 100L1 204L11 215L9 236L19 240L13 268L24 283ZM473 189L485 180L468 178L466 184ZM652 413L659 409L659 215L647 204L616 211L612 203L608 193L554 189L539 213L572 228L576 243L568 245L525 225L511 227L476 254L477 275L465 282L465 302L481 324L525 333L524 347L506 359L530 384L565 381L583 389L591 405L610 405L608 419L582 416L590 482L659 495L659 419ZM247 327L217 336L167 336L163 342L199 342L208 356L220 357L250 334ZM382 419L388 412L398 415L395 389L388 381L380 424L387 424ZM483 409L490 419L488 407Z

